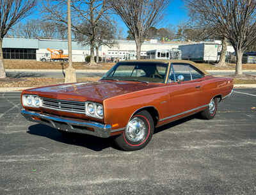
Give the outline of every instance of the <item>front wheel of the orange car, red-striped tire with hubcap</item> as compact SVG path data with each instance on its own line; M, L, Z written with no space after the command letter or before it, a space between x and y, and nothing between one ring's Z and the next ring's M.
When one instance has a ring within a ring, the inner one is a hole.
M115 137L115 143L126 151L140 150L147 146L154 132L154 121L147 111L132 116L123 134Z

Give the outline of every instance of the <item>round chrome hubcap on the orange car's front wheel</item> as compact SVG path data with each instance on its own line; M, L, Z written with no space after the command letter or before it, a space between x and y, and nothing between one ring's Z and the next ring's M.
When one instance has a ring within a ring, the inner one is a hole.
M146 125L140 118L132 118L129 121L126 129L125 136L129 141L138 142L145 137Z

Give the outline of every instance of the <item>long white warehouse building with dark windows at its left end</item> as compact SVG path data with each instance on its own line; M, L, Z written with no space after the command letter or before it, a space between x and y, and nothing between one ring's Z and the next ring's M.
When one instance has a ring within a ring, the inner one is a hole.
M141 56L146 56L147 51L152 49L172 49L179 48L184 42L162 43L156 41L145 41L141 46ZM188 44L188 43L185 43ZM45 40L32 38L4 38L3 56L5 59L34 59L40 61L42 56L50 54L49 49L63 50L68 54L67 40ZM116 40L113 47L102 46L99 55L106 58L122 58L129 54L136 56L136 44L132 40ZM85 61L85 57L90 55L90 46L72 42L72 60Z

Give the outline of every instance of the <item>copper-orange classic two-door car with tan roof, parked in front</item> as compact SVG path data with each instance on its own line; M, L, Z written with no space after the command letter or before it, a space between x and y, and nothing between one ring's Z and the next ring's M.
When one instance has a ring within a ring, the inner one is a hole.
M63 134L113 136L123 150L139 150L156 127L195 113L214 118L233 86L190 61L122 61L99 82L22 91L21 114Z

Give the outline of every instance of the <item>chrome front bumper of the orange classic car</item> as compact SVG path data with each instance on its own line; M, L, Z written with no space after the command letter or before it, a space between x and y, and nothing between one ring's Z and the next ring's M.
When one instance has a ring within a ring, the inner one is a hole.
M109 137L111 133L111 125L104 125L102 123L69 118L67 119L60 116L34 113L31 111L26 111L25 109L21 110L21 114L29 121L42 123L66 132L88 134L97 137Z

